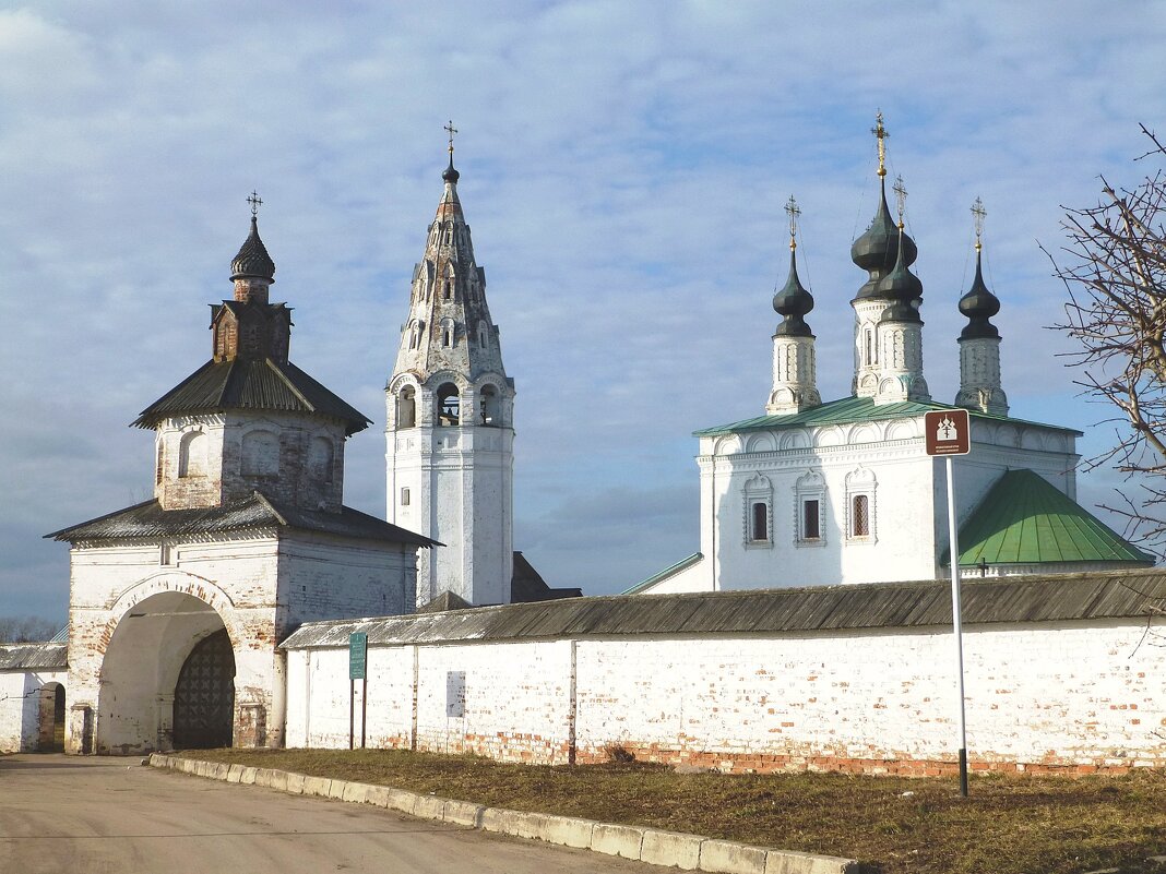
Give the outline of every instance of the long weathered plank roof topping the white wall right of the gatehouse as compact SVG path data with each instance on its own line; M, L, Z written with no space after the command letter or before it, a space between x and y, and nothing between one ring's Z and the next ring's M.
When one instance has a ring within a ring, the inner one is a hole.
M1166 573L1002 577L963 585L965 625L1145 618L1166 600ZM947 582L570 598L429 615L309 622L283 647L514 640L586 635L773 634L950 627Z

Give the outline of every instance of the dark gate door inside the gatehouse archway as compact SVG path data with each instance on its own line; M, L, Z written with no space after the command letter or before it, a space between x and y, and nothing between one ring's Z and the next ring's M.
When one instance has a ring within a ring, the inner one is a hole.
M230 747L234 725L234 651L224 628L187 656L174 688L176 749Z

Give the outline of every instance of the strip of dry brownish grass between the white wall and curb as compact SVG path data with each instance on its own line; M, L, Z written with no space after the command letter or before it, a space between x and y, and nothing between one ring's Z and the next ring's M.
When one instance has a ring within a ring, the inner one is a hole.
M505 764L402 750L197 750L515 810L648 825L859 859L878 874L1166 874L1166 774L1124 777L676 774L665 766Z

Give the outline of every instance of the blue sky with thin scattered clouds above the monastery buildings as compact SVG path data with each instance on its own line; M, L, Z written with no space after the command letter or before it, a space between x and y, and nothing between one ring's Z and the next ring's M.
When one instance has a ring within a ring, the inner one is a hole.
M49 531L148 500L139 411L210 358L247 195L294 310L292 360L373 420L345 502L384 517L384 386L452 120L477 261L517 383L514 544L618 592L698 549L700 428L764 411L788 268L849 394L874 214L870 128L919 245L925 367L958 387L974 272L1002 301L1012 414L1086 432L1046 330L1063 207L1157 169L1159 2L737 0L0 3L0 615L63 621ZM1082 503L1117 484L1079 480Z

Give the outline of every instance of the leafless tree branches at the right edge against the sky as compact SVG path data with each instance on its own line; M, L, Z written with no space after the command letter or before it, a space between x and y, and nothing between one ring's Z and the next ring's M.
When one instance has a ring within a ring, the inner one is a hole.
M1153 145L1138 161L1166 157ZM1125 520L1124 535L1166 555L1166 171L1132 189L1101 177L1096 206L1065 207L1066 244L1052 259L1068 290L1066 320L1054 325L1081 344L1069 353L1086 394L1116 408L1114 445L1082 463L1112 466L1126 478L1102 505Z

